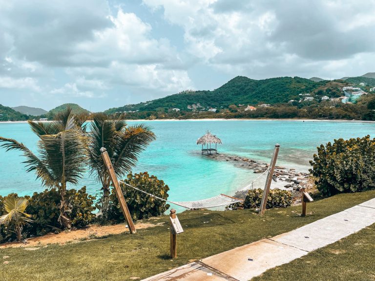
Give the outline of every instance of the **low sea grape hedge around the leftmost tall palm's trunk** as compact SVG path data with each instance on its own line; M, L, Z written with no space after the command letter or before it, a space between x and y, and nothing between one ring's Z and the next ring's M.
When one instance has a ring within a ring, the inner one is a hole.
M15 194L17 197L17 194ZM8 196L13 196L10 194ZM40 236L48 232L58 230L61 228L59 219L60 195L55 189L44 190L40 193L35 192L33 196L25 196L29 200L26 208L26 213L32 215L33 222L30 225L25 225L23 228L23 236L32 237ZM95 220L95 197L86 193L86 187L81 189L70 189L66 192L66 200L71 206L70 217L72 226L82 228L87 226L90 222ZM0 215L3 214L3 200L0 196ZM13 240L15 234L10 232L4 225L0 226L0 242Z

